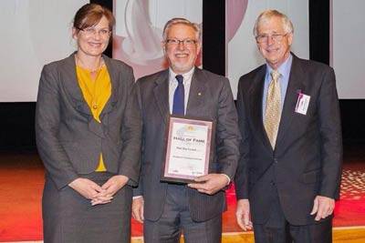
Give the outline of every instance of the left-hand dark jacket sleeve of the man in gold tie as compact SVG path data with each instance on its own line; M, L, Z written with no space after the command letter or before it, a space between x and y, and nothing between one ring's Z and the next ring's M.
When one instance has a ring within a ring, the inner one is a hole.
M242 82L238 83L237 94L238 124L241 133L240 158L237 171L235 172L235 197L238 199L248 198L248 160L249 160L249 137L250 131L247 124L247 115L244 104L244 92Z

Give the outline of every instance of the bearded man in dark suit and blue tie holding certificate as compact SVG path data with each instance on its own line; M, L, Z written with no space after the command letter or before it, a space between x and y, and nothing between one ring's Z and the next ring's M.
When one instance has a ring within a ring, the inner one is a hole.
M164 27L162 45L169 68L137 82L143 153L132 214L143 221L147 243L179 242L182 231L185 242L221 242L222 212L226 208L224 187L233 179L239 158L240 137L232 91L224 76L194 66L201 49L198 25L183 18L170 20ZM182 86L184 99L179 103L176 93ZM197 177L196 183L176 185L161 181L170 114L216 122L209 174Z

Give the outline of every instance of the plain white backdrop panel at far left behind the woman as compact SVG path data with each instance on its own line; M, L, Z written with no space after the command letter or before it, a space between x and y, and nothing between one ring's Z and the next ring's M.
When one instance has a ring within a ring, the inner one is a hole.
M86 3L0 1L0 102L36 101L42 66L75 50L72 18Z

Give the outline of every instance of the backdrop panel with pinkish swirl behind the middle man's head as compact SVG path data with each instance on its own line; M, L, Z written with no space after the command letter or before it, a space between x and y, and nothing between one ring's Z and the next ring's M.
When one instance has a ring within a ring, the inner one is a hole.
M166 67L162 30L169 19L184 17L202 25L203 0L114 0L113 10L113 57L132 66L138 78Z

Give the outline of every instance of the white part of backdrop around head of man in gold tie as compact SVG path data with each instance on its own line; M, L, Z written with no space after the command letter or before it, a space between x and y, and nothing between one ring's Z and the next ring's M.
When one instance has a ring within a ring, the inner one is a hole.
M248 0L244 20L226 51L226 76L234 96L239 77L264 63L255 44L253 28L257 15L268 8L275 8L291 19L294 25L292 50L299 57L309 57L308 0Z

